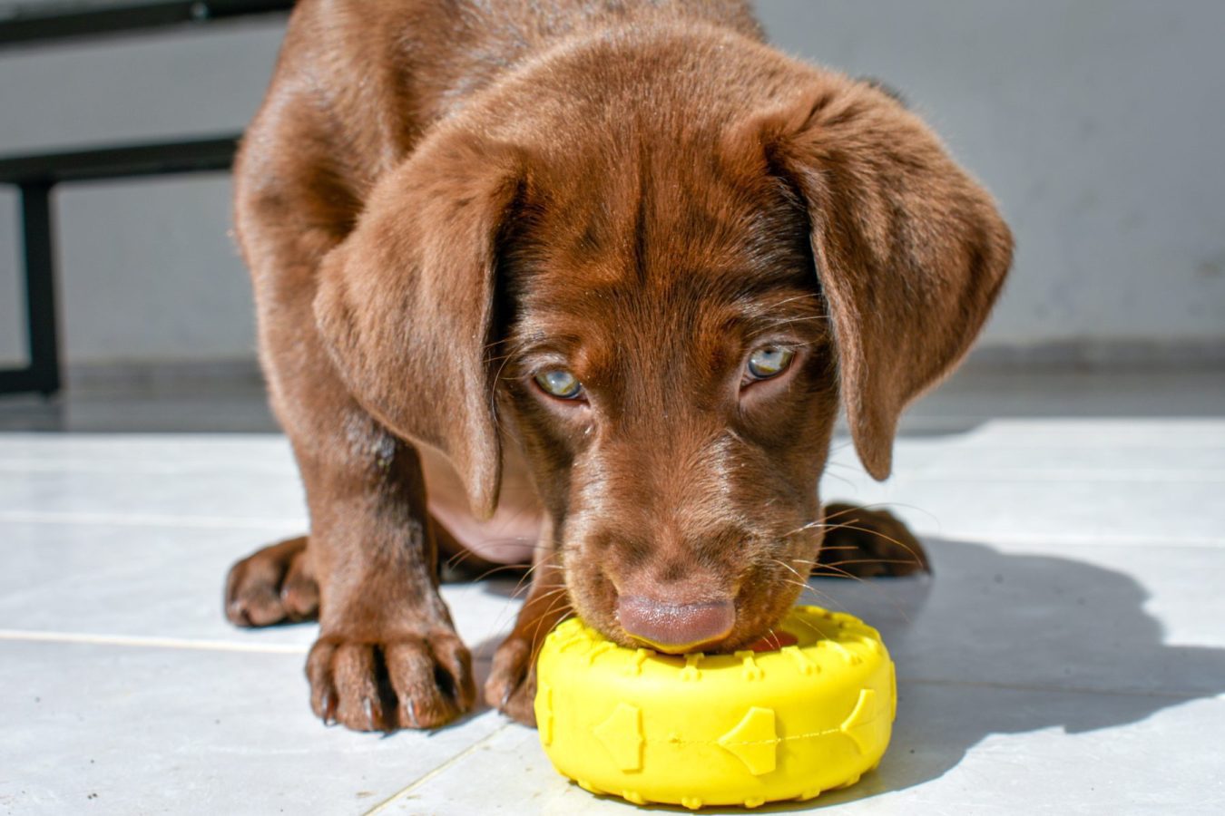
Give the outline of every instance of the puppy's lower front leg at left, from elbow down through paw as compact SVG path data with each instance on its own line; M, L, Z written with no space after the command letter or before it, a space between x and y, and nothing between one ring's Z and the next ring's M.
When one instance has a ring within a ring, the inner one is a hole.
M320 585L311 707L355 730L442 725L475 690L439 595L421 462L369 417L345 426L343 445L295 444Z

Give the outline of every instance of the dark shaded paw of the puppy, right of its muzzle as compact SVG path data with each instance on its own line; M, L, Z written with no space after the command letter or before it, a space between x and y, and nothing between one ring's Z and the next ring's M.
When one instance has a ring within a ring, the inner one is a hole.
M828 504L824 524L813 575L877 577L931 571L922 544L887 510Z

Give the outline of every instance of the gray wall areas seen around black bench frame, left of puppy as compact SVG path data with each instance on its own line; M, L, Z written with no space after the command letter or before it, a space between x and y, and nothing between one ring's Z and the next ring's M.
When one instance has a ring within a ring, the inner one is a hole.
M239 131L282 23L0 51L0 153ZM77 184L56 193L71 363L254 358L250 284L225 174ZM0 199L0 358L24 354L16 199Z

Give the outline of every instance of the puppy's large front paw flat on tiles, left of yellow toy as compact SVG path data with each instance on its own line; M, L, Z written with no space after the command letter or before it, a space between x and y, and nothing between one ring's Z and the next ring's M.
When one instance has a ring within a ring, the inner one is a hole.
M325 723L359 732L437 728L472 710L472 658L448 630L370 642L322 635L306 658L310 702Z

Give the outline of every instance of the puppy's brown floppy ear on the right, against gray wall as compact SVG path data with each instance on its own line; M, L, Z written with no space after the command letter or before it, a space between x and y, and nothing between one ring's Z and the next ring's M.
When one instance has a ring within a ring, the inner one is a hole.
M855 449L883 480L902 410L986 319L1012 235L935 135L876 88L831 77L757 126L771 171L809 213Z

